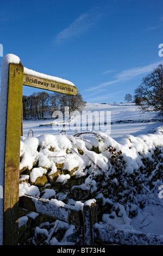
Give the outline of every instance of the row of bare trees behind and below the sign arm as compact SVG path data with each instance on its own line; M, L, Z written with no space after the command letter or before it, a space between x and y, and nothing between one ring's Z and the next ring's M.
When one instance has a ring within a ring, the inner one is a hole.
M71 115L72 111L82 111L86 103L80 93L72 96L47 92L33 93L30 96L23 95L22 102L23 119L41 119L45 117L46 112L52 114L58 110L64 113L65 107L69 107Z

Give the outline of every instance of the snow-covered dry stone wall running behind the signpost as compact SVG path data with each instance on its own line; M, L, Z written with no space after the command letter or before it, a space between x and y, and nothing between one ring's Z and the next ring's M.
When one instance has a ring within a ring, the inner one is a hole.
M95 199L101 226L146 231L139 226L141 212L162 203L162 146L161 127L126 136L121 144L95 132L21 137L20 197L31 194L70 205Z

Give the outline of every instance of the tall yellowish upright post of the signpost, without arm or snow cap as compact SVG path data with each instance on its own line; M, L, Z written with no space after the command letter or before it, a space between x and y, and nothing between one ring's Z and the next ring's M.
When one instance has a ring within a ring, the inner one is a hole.
M3 245L18 244L22 90L23 66L21 63L10 63L4 163Z

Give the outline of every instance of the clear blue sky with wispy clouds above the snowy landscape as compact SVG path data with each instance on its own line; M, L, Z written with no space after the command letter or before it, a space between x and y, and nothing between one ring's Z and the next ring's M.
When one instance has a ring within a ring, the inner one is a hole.
M120 103L163 64L162 10L162 0L1 0L0 44L26 68L73 82L87 103Z

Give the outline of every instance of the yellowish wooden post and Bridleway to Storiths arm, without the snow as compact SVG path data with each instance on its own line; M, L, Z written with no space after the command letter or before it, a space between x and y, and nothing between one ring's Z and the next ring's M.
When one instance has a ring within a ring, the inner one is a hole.
M27 69L25 69L27 70ZM27 72L26 72L27 73ZM53 78L53 77L52 77ZM61 80L62 81L62 80ZM68 81L67 81L68 82ZM3 187L3 245L18 244L18 205L20 179L20 137L22 121L23 84L68 95L76 95L78 90L71 83L32 76L24 73L20 63L9 63L7 113L4 152ZM2 230L1 230L2 231Z

